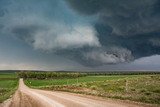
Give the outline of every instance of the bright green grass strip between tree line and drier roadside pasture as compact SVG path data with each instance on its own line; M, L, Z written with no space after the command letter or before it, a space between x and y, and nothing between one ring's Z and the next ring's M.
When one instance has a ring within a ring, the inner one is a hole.
M43 80L38 80L38 79L26 79L25 83L32 88L42 88L46 86L52 86L52 85L72 85L72 84L77 84L77 83L85 83L85 82L93 82L93 81L105 81L105 80L114 80L114 79L122 79L126 78L128 76L123 75L123 76L86 76L86 77L80 77L76 79L43 79ZM134 76L129 76L129 77L136 77Z

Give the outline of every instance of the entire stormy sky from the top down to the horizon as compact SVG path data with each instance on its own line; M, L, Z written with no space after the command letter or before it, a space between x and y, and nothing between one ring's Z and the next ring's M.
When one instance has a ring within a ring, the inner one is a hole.
M0 69L160 70L159 19L159 0L0 0Z

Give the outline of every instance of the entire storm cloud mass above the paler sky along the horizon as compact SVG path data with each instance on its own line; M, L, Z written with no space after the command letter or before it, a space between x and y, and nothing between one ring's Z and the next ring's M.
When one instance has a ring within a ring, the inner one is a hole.
M1 32L85 66L160 54L159 0L2 0L1 4Z

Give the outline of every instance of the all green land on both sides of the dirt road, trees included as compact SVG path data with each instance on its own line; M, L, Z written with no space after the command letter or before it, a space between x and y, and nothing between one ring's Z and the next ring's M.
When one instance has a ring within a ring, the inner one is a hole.
M0 73L0 102L15 92L19 74L25 77L25 84L31 88L160 104L160 74L91 75L62 72Z

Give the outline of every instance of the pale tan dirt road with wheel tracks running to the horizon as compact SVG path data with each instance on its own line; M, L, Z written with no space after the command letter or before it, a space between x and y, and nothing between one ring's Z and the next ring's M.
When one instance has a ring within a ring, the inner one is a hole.
M10 101L2 107L141 107L136 103L104 100L71 94L66 92L44 91L28 88L23 79L19 81L19 88Z

